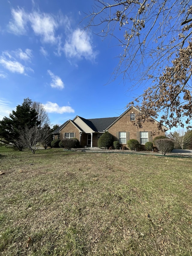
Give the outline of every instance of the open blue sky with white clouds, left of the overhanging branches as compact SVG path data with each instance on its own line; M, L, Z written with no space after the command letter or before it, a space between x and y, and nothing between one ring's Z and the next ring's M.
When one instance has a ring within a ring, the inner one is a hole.
M125 111L130 81L108 83L119 47L82 33L93 2L1 0L0 119L27 97L44 104L52 125Z

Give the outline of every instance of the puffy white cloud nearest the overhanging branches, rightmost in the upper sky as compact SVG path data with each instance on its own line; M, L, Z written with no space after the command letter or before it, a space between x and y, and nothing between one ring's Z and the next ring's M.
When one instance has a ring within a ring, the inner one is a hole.
M80 29L76 29L65 41L64 52L69 58L81 58L94 60L97 55L93 51L92 41L89 35L83 33Z

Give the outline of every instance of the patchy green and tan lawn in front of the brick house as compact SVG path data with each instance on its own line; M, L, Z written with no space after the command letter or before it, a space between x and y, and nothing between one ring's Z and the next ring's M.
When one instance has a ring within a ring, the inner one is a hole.
M192 254L192 158L0 154L0 255Z

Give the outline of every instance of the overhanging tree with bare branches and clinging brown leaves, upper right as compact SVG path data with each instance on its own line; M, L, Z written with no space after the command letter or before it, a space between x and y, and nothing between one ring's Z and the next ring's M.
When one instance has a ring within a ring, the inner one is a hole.
M159 129L162 123L169 128L191 127L191 1L95 0L85 19L86 29L119 41L122 52L114 79L123 74L131 80L129 90L143 89L128 104L141 110L137 125L154 122L161 113Z

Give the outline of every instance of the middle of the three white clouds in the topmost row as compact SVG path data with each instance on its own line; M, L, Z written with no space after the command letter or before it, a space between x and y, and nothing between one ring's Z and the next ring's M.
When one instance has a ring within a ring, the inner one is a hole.
M56 43L55 29L58 24L51 15L33 12L29 15L29 20L33 31L42 38L44 43Z

